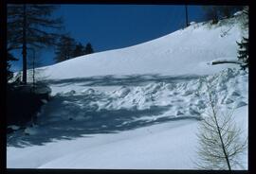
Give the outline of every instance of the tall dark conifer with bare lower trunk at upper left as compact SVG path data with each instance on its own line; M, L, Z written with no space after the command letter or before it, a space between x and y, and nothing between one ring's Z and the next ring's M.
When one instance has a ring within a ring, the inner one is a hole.
M62 20L50 17L55 9L51 5L8 6L8 46L9 50L22 48L24 83L27 83L27 48L52 45L59 36L52 29L61 28Z

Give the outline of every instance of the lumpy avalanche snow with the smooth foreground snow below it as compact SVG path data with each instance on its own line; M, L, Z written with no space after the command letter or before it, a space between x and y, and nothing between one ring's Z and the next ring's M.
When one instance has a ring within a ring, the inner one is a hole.
M197 122L208 110L207 82L220 108L234 110L245 129L247 76L229 68L179 82L60 93L42 108L38 127L9 137L8 167L193 168ZM16 148L20 142L23 148Z

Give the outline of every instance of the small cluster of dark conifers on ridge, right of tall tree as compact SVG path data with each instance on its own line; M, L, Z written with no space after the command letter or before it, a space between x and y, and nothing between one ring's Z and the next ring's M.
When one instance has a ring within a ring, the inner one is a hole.
M55 61L66 61L91 53L94 53L91 43L87 43L83 46L82 43L76 42L75 39L66 34L59 39L59 42L56 45Z

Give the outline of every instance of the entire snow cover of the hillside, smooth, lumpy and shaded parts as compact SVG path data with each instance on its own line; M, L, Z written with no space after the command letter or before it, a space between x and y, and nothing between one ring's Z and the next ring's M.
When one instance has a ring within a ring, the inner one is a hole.
M7 167L195 169L206 80L247 137L247 72L209 63L235 60L240 37L234 22L194 24L40 68L51 100L36 125L8 136ZM247 152L235 168L247 169Z

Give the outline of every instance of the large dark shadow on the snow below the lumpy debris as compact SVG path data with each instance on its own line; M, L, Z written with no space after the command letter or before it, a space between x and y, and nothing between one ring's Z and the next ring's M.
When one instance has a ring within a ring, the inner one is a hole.
M99 110L98 107L90 104L99 97L103 96L54 96L38 117L36 127L31 128L36 133L26 135L24 130L18 130L9 135L8 146L17 148L42 146L55 140L90 137L95 133L117 133L171 120L193 118L192 116L175 118L174 115L168 115L154 119L154 115L168 111L169 106L152 106L145 110L137 108ZM139 119L143 116L153 117Z

